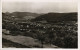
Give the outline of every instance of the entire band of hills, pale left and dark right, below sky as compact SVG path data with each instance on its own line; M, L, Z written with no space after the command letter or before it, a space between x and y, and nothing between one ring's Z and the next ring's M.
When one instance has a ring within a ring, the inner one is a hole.
M77 12L71 12L71 13L47 13L47 14L37 14L37 13L31 13L31 12L13 12L13 13L2 13L3 18L8 17L12 18L11 16L14 16L14 18L17 18L19 20L21 19L32 19L32 21L42 21L46 20L48 22L54 22L54 21L77 21Z

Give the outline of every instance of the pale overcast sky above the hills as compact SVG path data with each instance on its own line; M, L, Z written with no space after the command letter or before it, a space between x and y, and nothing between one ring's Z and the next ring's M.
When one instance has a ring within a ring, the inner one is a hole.
M30 2L30 1L10 1L3 0L2 12L33 12L33 13L48 13L48 12L77 12L77 2L75 1L53 1L53 2Z

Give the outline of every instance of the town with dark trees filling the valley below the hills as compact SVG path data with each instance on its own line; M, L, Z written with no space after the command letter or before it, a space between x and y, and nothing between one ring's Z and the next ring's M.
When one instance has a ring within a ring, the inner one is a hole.
M60 48L77 48L77 21L49 23L46 20L15 21L14 17L11 19L5 17L2 21L2 29L8 31L8 33L3 31L6 36L32 37L41 41L42 47L43 44L53 44Z

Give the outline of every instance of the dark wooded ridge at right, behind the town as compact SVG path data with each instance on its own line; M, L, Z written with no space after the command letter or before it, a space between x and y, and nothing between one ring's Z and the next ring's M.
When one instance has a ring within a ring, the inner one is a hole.
M41 16L38 16L34 21L46 20L48 22L53 21L77 21L77 12L73 13L47 13Z

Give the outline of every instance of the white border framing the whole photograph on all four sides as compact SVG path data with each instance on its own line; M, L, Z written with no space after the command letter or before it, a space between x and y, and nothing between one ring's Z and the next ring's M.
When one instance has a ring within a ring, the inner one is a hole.
M0 50L66 50L66 49L60 49L60 48L2 48L2 2L78 2L78 21L80 21L80 7L79 7L79 0L0 0ZM80 28L80 22L78 22L78 33ZM80 34L78 34L78 42ZM79 50L80 44L78 44L78 49L68 49L68 50Z

